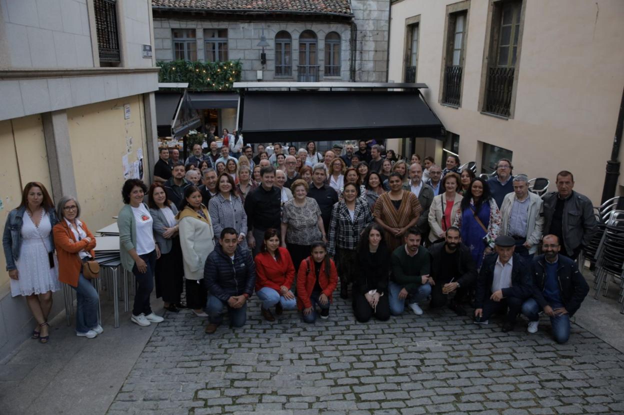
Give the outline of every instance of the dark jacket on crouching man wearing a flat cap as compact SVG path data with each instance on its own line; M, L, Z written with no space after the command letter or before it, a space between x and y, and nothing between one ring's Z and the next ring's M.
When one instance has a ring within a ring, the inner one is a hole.
M474 308L483 308L485 301L492 295L492 281L494 281L494 266L499 259L497 253L485 256L477 278L477 293L475 295ZM512 286L504 288L504 297L515 297L525 300L533 294L530 265L522 256L514 253L512 258L511 283Z

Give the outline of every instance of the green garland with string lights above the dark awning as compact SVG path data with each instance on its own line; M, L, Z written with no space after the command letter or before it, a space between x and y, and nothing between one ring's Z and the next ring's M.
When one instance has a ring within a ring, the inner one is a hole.
M190 90L231 90L241 79L240 61L225 62L157 62L158 82L188 82Z

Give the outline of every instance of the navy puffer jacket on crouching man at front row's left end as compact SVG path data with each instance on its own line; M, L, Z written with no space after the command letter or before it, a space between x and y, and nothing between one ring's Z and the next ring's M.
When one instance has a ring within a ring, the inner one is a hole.
M234 260L217 245L203 268L203 285L221 301L231 296L247 294L251 297L256 286L256 265L247 248L236 247Z

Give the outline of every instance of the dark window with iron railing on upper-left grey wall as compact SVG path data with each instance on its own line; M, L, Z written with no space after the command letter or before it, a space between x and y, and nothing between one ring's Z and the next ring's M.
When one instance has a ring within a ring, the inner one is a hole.
M100 62L119 62L119 35L115 0L94 0L95 31Z

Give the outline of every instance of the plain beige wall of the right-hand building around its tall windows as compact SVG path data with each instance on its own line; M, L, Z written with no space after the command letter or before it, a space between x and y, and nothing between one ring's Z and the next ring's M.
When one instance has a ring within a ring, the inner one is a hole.
M556 173L570 170L575 190L599 203L624 87L624 2L525 0L512 119L480 113L488 0L470 1L461 108L439 104L446 6L454 2L393 4L389 79L402 81L406 19L420 16L416 82L429 86L427 102L459 134L462 163L480 169L482 143L504 147L515 173L548 177L554 190Z

